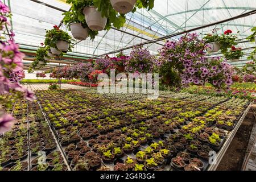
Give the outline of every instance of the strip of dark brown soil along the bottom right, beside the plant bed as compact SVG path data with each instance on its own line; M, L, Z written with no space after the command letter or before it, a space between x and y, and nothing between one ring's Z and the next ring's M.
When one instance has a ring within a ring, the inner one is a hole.
M241 170L254 121L255 119L249 111L218 165L217 171Z

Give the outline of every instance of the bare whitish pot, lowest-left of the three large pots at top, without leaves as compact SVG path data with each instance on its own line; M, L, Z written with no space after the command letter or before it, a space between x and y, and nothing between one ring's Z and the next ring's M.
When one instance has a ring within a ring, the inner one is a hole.
M73 38L85 40L88 37L88 28L82 27L81 23L71 23L70 28Z

